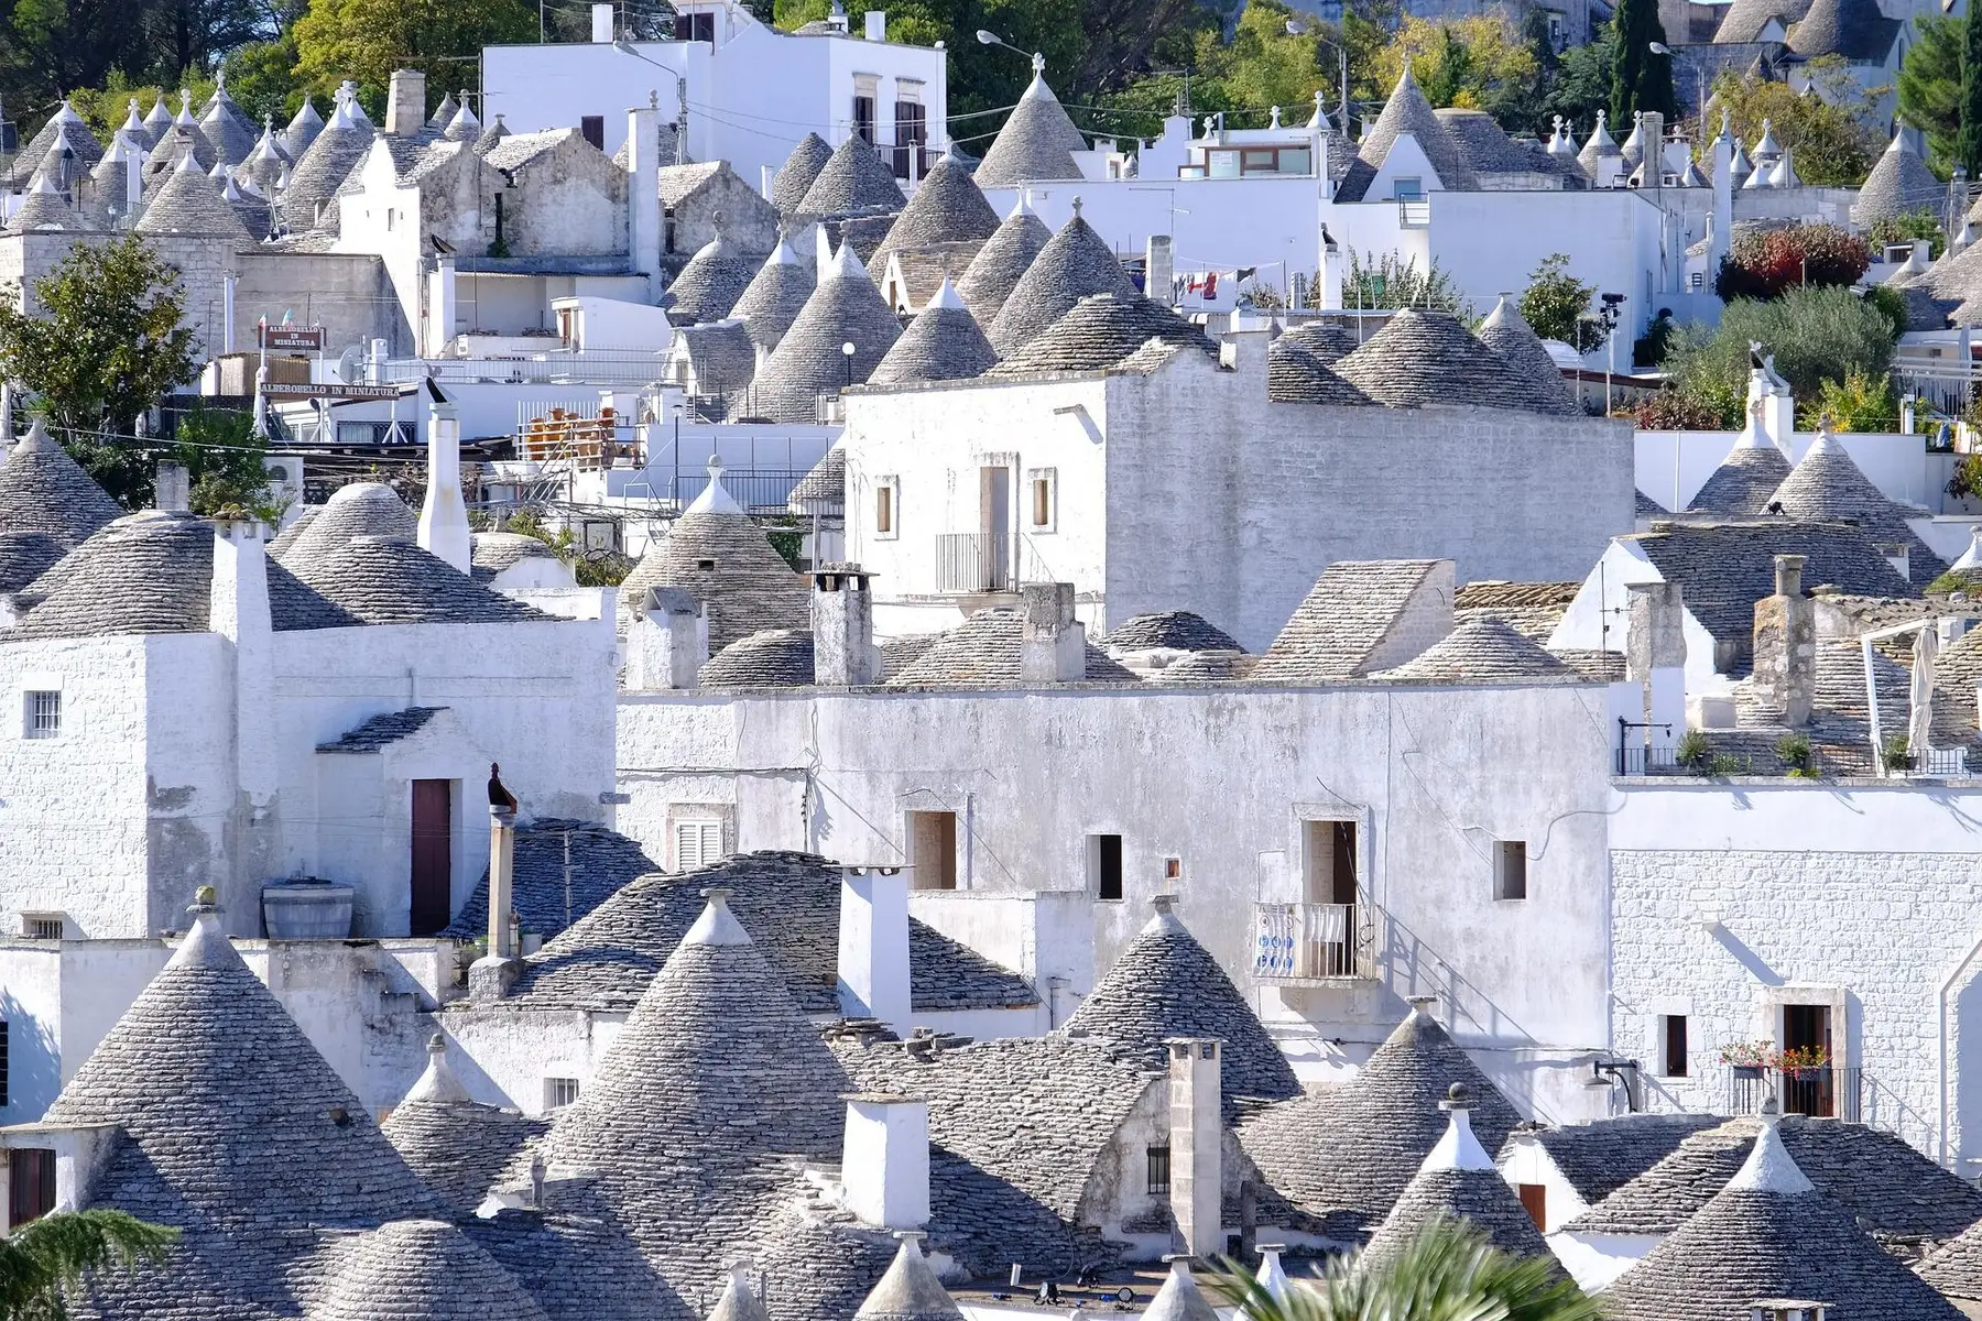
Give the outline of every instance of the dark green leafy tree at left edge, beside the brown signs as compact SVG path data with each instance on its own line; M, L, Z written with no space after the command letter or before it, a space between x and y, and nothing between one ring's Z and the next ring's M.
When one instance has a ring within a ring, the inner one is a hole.
M0 370L127 509L151 493L151 456L131 428L192 368L178 271L139 234L71 248L34 281L26 313L0 299Z

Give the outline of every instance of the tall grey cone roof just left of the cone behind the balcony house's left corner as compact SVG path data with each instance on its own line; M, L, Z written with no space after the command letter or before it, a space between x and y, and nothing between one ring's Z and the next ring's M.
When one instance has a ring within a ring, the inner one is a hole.
M805 424L819 420L821 396L864 384L888 349L902 337L902 323L868 279L850 244L840 244L825 279L805 299L791 329L763 360L735 416ZM852 345L852 355L842 351Z

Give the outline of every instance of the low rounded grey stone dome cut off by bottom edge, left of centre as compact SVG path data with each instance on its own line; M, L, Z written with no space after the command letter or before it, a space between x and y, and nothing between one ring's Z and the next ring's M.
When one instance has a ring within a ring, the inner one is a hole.
M545 1321L515 1275L452 1224L396 1220L335 1250L311 1321Z

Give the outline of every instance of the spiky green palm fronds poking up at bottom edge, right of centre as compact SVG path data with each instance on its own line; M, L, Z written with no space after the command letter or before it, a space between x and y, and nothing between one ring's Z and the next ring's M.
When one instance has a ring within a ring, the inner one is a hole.
M1463 1220L1437 1218L1401 1254L1374 1270L1330 1262L1286 1299L1235 1268L1213 1293L1255 1321L1597 1321L1601 1311L1546 1258L1516 1258Z

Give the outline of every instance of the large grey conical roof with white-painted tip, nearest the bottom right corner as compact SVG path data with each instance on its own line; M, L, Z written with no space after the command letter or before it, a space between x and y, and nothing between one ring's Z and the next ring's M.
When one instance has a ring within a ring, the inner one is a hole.
M1839 1319L1962 1315L1817 1192L1772 1125L1726 1188L1603 1293L1617 1321L1724 1321L1766 1297L1827 1303Z

